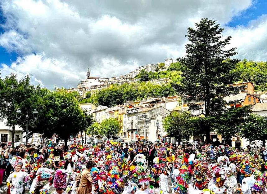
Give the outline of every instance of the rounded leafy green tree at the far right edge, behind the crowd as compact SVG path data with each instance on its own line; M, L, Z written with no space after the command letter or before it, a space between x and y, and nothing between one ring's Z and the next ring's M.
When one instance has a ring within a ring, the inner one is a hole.
M267 139L265 117L258 114L250 114L242 126L240 135L250 141L256 139L262 140L263 146L265 146L265 139Z

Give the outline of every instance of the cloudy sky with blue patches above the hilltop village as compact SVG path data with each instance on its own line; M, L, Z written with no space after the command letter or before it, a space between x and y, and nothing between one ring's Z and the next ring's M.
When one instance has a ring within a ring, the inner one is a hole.
M216 20L235 58L267 60L266 0L0 0L1 77L53 89L185 55L187 28Z

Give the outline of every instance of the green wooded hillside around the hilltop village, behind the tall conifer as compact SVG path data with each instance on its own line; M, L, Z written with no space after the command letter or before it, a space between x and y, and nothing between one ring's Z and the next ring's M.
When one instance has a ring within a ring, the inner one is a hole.
M107 89L100 90L97 94L87 95L85 99L81 99L79 103L92 103L94 105L114 106L122 104L128 100L142 100L150 96L171 96L176 95L177 91L172 87L171 83L161 86L146 82L152 79L169 77L171 82L180 84L183 77L184 67L179 62L170 65L169 68L162 67L157 72L140 72L136 77L140 78L140 82L112 85ZM255 86L255 91L267 90L267 61L241 60L234 69L239 75L237 82L251 81Z

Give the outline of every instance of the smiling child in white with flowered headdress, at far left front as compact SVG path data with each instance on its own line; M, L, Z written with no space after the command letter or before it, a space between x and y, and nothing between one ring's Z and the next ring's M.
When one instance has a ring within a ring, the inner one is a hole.
M14 172L7 178L7 186L10 188L10 194L21 194L23 192L23 178L29 176L28 173L21 171L22 158L17 156L10 160ZM10 183L12 182L12 183Z

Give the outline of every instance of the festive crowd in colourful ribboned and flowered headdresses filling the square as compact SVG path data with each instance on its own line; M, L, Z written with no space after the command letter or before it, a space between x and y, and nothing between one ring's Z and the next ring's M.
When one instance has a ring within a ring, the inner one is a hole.
M1 144L0 151L0 181L7 178L10 194L48 194L50 187L53 194L267 193L267 154L249 147L201 141L176 146L162 139L130 145L73 141L65 148L49 139L14 150Z

